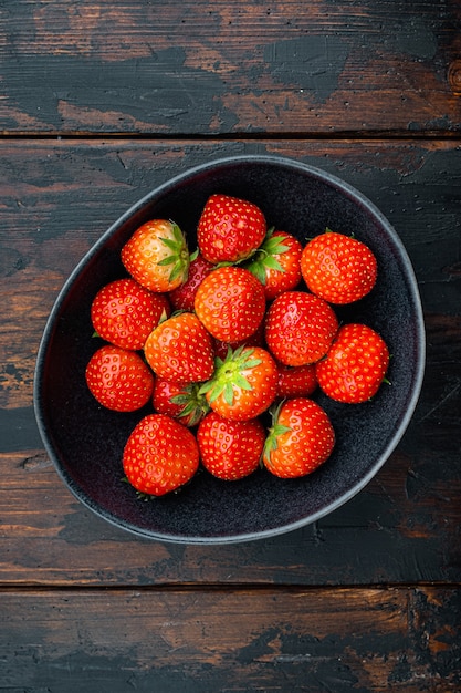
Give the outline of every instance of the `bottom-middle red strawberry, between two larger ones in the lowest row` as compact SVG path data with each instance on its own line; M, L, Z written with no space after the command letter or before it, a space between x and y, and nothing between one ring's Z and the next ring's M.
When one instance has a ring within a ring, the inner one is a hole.
M207 414L197 431L203 467L228 482L258 469L264 441L265 430L258 418L230 421L216 412Z

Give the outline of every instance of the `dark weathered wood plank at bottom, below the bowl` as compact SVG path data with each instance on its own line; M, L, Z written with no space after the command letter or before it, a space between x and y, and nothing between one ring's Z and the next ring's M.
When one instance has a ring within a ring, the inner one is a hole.
M0 594L8 691L459 691L452 589Z

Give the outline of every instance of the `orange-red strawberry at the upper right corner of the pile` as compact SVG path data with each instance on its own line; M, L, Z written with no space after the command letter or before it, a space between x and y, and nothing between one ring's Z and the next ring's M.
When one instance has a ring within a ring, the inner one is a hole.
M376 283L377 261L362 241L327 230L305 246L301 257L304 281L329 303L352 303Z

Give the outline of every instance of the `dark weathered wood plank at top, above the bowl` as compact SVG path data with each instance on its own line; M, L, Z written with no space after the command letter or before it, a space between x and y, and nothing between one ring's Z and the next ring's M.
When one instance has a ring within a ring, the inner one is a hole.
M18 0L0 13L0 131L461 127L457 2Z

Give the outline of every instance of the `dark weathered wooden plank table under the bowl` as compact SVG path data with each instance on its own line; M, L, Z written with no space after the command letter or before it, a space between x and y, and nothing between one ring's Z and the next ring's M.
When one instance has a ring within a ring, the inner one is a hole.
M0 691L460 691L460 2L0 1ZM124 210L242 153L336 174L394 224L425 309L421 397L317 524L140 540L46 457L38 345Z

